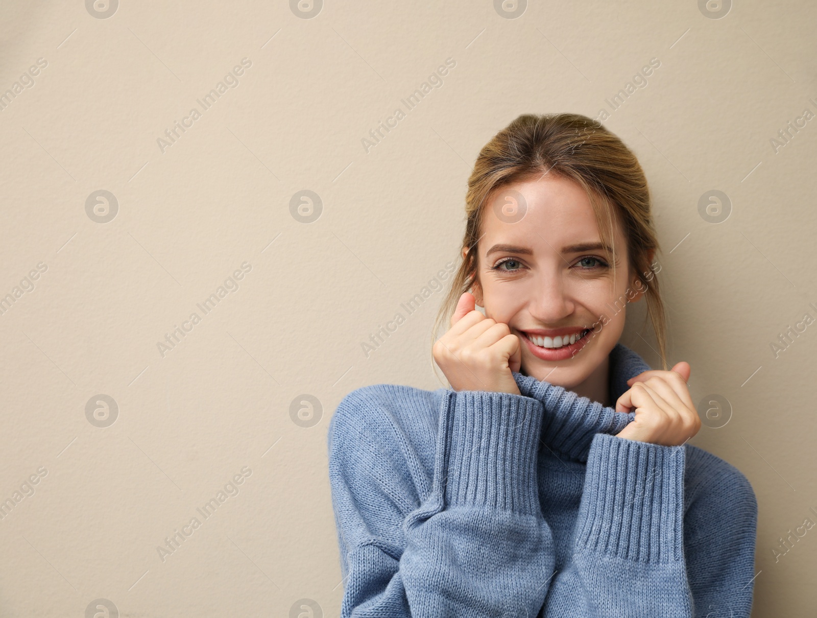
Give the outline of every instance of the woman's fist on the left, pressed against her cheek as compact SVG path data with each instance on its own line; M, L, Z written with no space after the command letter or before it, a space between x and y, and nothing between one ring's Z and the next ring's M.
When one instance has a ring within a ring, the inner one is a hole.
M437 339L434 360L455 391L520 395L512 371L519 371L521 343L507 324L475 310L476 299L463 293L451 316L451 329Z

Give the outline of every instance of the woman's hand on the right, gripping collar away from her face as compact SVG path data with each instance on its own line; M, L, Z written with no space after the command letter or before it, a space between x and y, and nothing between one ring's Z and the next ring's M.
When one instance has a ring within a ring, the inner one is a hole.
M627 440L678 446L701 428L701 419L686 386L690 364L669 371L650 369L627 380L630 389L616 401L616 412L635 408L636 418L616 435Z

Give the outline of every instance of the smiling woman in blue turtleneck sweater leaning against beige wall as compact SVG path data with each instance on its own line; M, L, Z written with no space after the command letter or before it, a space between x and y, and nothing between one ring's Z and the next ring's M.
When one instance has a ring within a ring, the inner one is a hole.
M749 616L757 501L686 444L634 154L585 116L522 115L466 202L433 346L450 389L359 388L330 424L342 616ZM641 297L663 370L618 343Z

